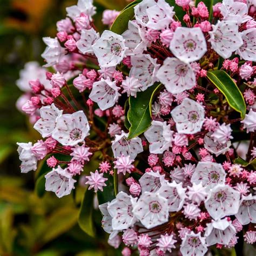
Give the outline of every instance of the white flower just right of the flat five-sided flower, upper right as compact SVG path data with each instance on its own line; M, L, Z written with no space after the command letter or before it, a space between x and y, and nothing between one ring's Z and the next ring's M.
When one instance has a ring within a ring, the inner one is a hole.
M223 58L230 58L232 53L242 45L237 21L218 21L209 31L212 49Z

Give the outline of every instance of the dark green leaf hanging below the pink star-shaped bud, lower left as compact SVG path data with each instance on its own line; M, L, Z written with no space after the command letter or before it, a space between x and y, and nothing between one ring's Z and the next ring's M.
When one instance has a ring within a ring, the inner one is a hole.
M78 224L82 230L90 235L95 237L95 227L93 226L93 198L95 193L93 190L86 190L84 193L84 198L80 206Z

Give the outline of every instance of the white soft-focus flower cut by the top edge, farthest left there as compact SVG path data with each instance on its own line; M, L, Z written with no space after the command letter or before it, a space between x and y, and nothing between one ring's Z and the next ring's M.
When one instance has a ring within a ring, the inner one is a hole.
M93 0L78 0L77 5L72 5L66 8L68 16L75 21L80 14L86 14L91 17L96 14L96 8L92 4Z

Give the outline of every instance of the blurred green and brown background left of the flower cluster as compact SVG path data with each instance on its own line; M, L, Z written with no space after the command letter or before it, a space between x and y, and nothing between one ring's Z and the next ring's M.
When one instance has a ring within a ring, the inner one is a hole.
M120 255L106 243L86 235L77 224L83 194L58 199L53 193L39 198L34 192L35 172L22 174L16 142L35 142L38 134L16 109L22 92L16 86L26 62L43 64L43 36L56 35L56 22L76 0L0 0L0 255ZM94 17L100 30L104 9L122 10L125 0L97 0ZM74 200L75 198L75 200ZM78 203L77 203L78 202ZM93 217L100 224L100 215ZM100 232L100 225L98 225Z

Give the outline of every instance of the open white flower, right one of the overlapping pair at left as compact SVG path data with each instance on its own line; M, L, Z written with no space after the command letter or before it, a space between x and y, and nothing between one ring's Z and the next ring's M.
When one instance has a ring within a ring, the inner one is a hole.
M63 146L75 146L89 135L90 126L84 112L63 114L57 118L52 138Z

